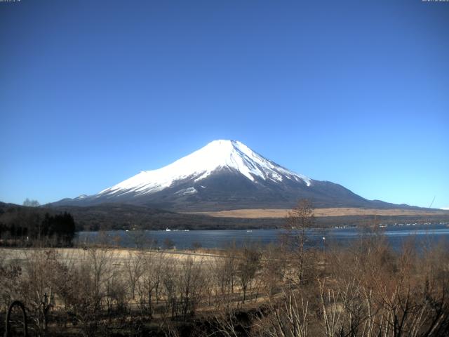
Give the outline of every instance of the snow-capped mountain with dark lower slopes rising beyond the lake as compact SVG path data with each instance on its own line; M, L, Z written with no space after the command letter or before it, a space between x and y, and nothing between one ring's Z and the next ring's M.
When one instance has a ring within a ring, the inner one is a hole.
M97 194L62 199L53 206L121 203L177 211L288 209L301 198L311 199L315 207L398 208L297 174L235 140L215 140L161 169L142 171Z

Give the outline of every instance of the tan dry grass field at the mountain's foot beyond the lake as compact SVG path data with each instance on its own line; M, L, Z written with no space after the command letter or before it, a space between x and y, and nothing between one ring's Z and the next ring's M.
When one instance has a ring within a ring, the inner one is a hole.
M230 211L194 212L222 218L284 218L289 209L234 209ZM315 216L436 216L449 215L449 211L421 211L416 209L314 209Z

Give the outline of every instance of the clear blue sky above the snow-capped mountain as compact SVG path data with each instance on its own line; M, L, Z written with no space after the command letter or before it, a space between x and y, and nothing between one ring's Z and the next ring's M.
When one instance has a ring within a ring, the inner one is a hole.
M215 139L449 206L449 3L0 2L0 200L93 194Z

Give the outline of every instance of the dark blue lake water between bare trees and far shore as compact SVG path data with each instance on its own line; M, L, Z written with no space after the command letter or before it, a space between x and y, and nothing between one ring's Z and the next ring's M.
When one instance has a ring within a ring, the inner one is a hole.
M396 225L380 228L394 249L399 249L408 239L414 239L417 244L449 243L448 224L431 225ZM191 231L165 231L123 230L108 232L79 232L76 240L79 244L107 241L121 247L166 247L168 242L177 249L190 249L194 245L203 248L224 248L235 243L243 244L270 244L279 240L283 230L191 230ZM349 244L352 240L361 237L361 230L356 227L333 228L330 230L309 230L307 232L307 245L322 247L328 244ZM326 239L323 239L326 238Z

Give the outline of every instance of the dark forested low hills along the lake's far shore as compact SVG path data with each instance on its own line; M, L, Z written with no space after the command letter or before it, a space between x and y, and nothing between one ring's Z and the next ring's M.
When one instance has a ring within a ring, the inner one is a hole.
M162 209L129 204L101 204L98 206L25 207L0 203L0 234L8 237L8 226L14 224L15 231L24 233L51 232L43 222L48 216L69 213L74 219L76 231L80 230L229 230L279 228L283 218L217 218L213 216L175 213ZM54 218L51 218L54 219ZM51 220L52 221L52 220ZM322 216L316 217L316 225L360 225L363 223L427 223L449 221L448 215L435 216ZM22 225L26 224L26 225ZM41 228L39 229L39 226ZM43 226L43 227L42 227ZM23 228L22 228L23 227ZM47 231L47 232L46 232ZM32 235L34 235L32 234Z

